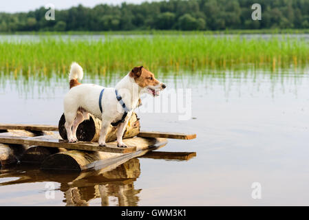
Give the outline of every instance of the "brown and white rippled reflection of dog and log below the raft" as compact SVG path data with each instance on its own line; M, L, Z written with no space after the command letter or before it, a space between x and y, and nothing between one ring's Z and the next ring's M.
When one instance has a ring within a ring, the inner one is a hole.
M131 159L106 173L61 184L66 206L89 206L100 198L101 206L138 206L138 193L134 181L140 175L140 162ZM100 183L98 182L101 179Z

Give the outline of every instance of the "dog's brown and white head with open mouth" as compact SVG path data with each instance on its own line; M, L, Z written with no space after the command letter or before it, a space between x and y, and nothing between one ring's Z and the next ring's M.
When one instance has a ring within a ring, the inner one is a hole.
M142 92L151 94L154 96L159 96L160 91L165 89L167 86L157 80L153 73L144 67L134 67L129 76L134 78L135 83L142 89Z

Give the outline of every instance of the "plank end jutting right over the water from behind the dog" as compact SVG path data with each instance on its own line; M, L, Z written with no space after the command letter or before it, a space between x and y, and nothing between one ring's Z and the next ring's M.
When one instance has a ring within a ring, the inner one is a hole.
M196 134L175 133L175 132L160 132L160 131L140 131L138 137L164 137L181 140L192 140Z

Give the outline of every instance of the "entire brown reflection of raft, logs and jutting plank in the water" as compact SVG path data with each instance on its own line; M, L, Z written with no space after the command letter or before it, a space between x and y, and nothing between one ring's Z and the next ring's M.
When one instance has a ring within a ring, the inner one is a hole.
M166 160L189 160L195 152L149 152L142 157ZM112 165L111 165L112 166ZM102 171L103 170L103 171ZM0 187L37 182L60 183L56 190L63 192L65 206L89 206L94 199L100 199L101 206L138 206L139 193L134 183L140 177L138 158L108 171L65 172L40 170L28 164L12 168L3 168L0 174ZM46 191L46 189L45 189ZM45 193L44 191L44 193Z

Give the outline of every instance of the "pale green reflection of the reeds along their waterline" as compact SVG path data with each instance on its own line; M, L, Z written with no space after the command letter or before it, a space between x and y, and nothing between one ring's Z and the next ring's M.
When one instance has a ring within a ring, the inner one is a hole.
M68 72L69 70L67 70ZM103 75L86 73L82 83L94 83L105 87L114 87L127 72L110 72ZM269 85L272 94L275 87L285 89L288 86L299 86L303 78L308 78L306 68L287 69L204 69L195 72L182 70L180 72L156 72L156 78L169 84L169 89L193 88L193 85L202 86L202 90L211 90L213 85L219 85L226 94L233 85L251 85L259 91L262 83ZM67 74L51 73L47 76L41 74L24 76L23 74L0 73L0 96L17 93L23 99L42 99L63 97L67 92Z

